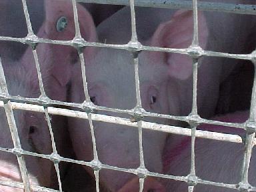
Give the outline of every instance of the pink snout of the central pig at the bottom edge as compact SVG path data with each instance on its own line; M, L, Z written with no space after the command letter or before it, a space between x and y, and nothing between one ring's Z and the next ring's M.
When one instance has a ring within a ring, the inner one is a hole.
M135 191L139 192L139 179L133 178L131 181L128 181L118 192L129 192ZM143 192L165 192L165 187L154 179L153 177L147 177L144 181Z

